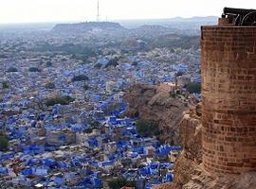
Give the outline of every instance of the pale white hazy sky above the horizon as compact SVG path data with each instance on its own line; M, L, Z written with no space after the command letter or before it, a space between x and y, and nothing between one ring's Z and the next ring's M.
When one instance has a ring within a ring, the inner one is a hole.
M256 0L100 0L101 21L220 16L224 7L256 9ZM97 0L0 0L0 23L95 21Z

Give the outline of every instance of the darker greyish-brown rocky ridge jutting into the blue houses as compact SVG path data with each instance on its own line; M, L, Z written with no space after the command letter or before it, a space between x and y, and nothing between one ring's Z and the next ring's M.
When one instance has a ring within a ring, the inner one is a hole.
M154 122L164 133L161 140L171 144L178 142L178 126L182 112L187 111L192 103L170 97L171 87L167 84L150 86L137 84L124 99L129 103L128 115Z

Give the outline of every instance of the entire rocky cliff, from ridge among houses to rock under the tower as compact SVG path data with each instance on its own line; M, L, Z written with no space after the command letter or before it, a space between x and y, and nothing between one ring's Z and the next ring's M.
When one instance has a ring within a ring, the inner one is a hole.
M129 116L157 123L165 133L163 140L183 146L174 163L174 181L155 189L255 189L256 172L213 175L204 170L201 104L194 106L191 99L172 98L170 90L165 84L137 84L124 95Z

